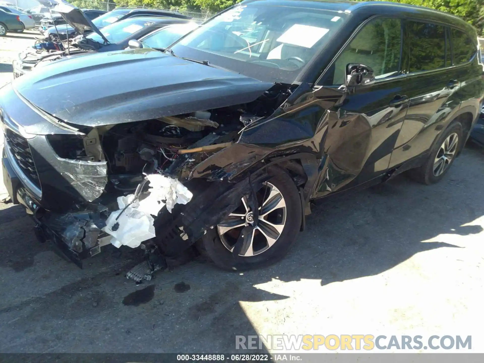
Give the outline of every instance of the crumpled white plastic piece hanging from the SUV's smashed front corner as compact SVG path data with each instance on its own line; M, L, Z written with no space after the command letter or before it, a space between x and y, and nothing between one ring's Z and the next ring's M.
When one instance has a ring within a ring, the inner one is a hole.
M111 243L118 248L121 245L136 248L155 237L153 216L165 206L171 213L175 204L187 204L193 197L192 192L174 178L150 174L146 179L150 182L148 196L143 195L143 199L135 201L134 194L118 197L119 210L107 218L103 230L112 236Z

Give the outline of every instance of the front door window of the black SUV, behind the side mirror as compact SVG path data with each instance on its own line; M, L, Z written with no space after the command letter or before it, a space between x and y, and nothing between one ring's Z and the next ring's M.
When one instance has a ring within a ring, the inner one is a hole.
M375 78L398 74L400 66L401 22L400 19L375 19L366 24L346 46L328 70L331 79L325 85L345 83L348 63L360 63L373 68Z

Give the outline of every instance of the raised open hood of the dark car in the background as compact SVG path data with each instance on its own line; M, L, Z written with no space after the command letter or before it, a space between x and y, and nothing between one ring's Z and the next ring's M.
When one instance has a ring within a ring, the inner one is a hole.
M51 11L59 13L64 20L73 27L79 34L84 34L84 31L95 31L106 43L109 43L103 33L92 24L82 10L69 4L64 0L38 0L42 5L49 8Z

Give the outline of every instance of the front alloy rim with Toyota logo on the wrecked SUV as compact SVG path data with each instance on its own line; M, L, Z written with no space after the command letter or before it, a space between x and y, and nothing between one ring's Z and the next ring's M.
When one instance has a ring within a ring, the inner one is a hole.
M240 256L256 256L272 247L279 239L286 225L286 201L277 187L270 182L263 183L257 192L259 218L251 236L246 236ZM246 197L239 207L217 226L217 232L223 245L232 251L245 226L254 224L254 214L250 210Z

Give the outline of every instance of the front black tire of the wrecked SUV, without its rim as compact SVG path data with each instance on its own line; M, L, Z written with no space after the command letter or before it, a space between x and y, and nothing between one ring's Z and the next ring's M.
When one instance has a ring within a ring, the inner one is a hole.
M222 243L217 228L209 229L197 241L196 247L202 255L211 259L217 267L230 271L244 271L271 265L286 256L289 247L296 240L302 220L301 199L298 189L283 169L273 167L269 174L271 178L268 182L279 189L286 202L286 224L279 238L271 247L258 255L234 257L232 252Z

